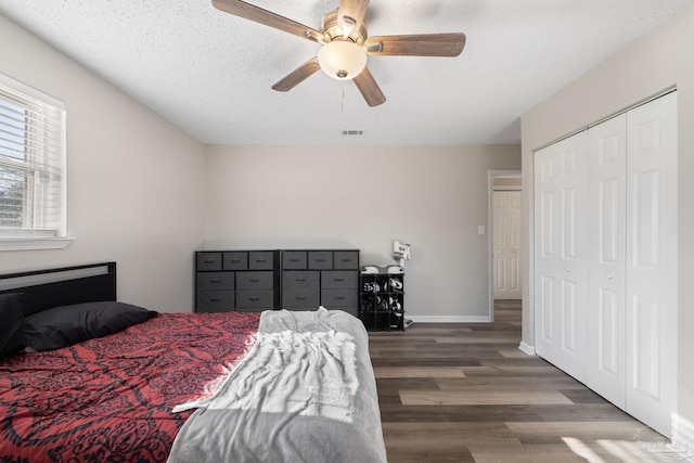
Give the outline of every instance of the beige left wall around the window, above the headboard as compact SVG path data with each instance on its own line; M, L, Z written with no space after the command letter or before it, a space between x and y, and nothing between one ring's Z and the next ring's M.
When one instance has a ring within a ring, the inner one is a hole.
M67 106L67 230L61 250L0 253L0 272L116 260L120 300L192 307L203 236L204 146L0 15L0 73Z

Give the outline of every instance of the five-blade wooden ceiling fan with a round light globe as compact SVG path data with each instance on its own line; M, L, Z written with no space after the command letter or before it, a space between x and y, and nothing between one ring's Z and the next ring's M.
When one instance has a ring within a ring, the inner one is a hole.
M464 34L423 34L369 37L364 14L369 0L339 0L339 8L321 22L321 30L305 26L241 0L213 0L217 10L321 44L318 55L310 59L272 86L288 91L322 69L329 76L354 79L369 106L385 103L386 97L367 67L371 56L458 56L465 47Z

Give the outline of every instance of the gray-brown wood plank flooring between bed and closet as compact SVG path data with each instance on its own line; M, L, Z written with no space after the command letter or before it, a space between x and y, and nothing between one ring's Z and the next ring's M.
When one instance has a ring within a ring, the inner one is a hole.
M498 301L494 313L494 323L370 333L390 463L683 461L659 434L518 350L519 301Z

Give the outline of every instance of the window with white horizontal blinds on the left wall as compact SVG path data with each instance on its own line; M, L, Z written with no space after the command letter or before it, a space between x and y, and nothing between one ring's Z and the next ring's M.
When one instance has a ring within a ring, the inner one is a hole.
M0 74L0 249L69 244L65 200L64 104Z

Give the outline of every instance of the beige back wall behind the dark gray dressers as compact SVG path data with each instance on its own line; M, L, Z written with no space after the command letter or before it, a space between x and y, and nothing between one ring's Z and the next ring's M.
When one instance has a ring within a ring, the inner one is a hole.
M412 245L409 317L489 314L487 172L518 169L518 145L209 146L206 241L301 246L342 242L361 262ZM422 320L422 319L420 319Z

